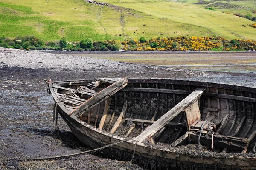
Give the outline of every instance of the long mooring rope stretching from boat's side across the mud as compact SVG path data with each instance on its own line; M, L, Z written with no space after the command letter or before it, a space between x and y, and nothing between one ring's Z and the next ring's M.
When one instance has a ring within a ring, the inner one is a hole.
M69 156L74 156L74 155L81 155L81 154L84 154L84 153L90 153L90 152L94 152L94 151L97 151L97 150L102 150L102 149L105 149L107 147L112 147L116 144L119 144L119 143L122 143L122 142L125 142L125 141L128 141L130 140L131 138L126 138L122 141L119 141L119 142L116 142L116 143L113 143L113 144L108 144L106 146L103 146L103 147L99 147L97 149L92 149L92 150L87 150L87 151L84 151L84 152L79 152L79 153L72 153L72 154L68 154L68 155L62 155L62 156L52 156L52 157L46 157L46 158L32 158L32 159L26 159L27 161L42 161L42 160L47 160L47 159L58 159L58 158L64 158L64 157L69 157ZM136 146L136 145L135 145Z

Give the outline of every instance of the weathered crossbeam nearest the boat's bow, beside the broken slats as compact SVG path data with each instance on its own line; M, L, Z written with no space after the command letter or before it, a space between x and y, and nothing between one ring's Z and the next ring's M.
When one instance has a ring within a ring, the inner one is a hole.
M76 108L70 114L73 114L74 116L79 116L82 111L93 108L94 106L98 105L103 100L107 99L108 97L115 94L117 91L124 88L127 85L127 81L128 81L127 79L128 77L125 77L124 79L121 79L118 82L103 89L102 91L100 91L99 93L97 93L96 95L88 99L86 102L81 104L78 108Z

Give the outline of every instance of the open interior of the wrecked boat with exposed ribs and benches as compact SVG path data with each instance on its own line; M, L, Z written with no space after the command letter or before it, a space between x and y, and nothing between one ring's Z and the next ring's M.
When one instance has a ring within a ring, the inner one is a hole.
M54 82L78 119L160 147L201 144L209 152L254 153L256 89L172 79Z

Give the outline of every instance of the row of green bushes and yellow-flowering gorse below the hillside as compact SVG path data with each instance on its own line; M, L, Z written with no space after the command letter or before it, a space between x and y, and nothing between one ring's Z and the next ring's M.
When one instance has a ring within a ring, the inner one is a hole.
M140 40L94 41L90 38L79 41L67 41L66 37L56 41L44 41L35 36L17 36L14 39L1 36L0 46L23 50L68 50L68 51L205 51L205 50L256 50L256 41L250 39L228 40L224 37L141 37Z

